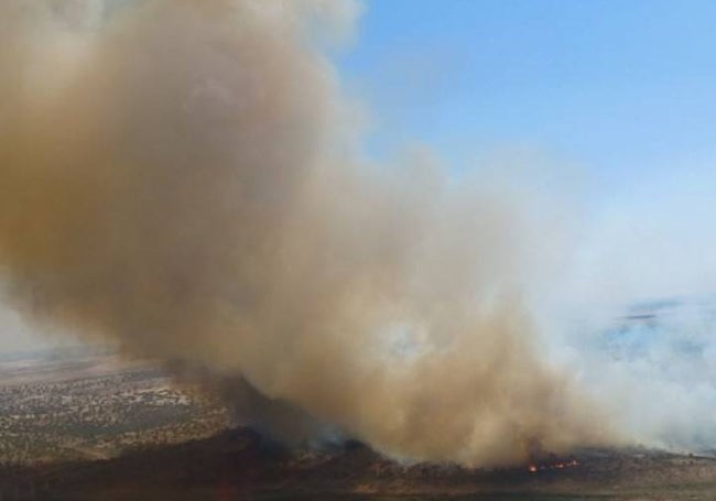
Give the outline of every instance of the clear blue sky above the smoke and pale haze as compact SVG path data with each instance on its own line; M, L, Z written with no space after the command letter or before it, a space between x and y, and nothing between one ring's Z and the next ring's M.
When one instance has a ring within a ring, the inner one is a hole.
M340 69L372 146L431 144L456 166L545 149L607 186L716 153L716 2L369 1Z

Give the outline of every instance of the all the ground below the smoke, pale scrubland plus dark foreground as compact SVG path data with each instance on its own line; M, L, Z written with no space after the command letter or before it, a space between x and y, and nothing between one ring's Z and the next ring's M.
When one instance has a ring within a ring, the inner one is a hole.
M713 500L716 459L579 450L509 469L286 450L110 355L0 361L0 499Z

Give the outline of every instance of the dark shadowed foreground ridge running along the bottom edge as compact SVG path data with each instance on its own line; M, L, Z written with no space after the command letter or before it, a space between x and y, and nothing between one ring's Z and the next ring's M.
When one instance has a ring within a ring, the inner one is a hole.
M6 468L7 493L54 499L713 500L716 460L585 450L578 466L470 470L401 466L359 444L291 453L247 428L111 460Z

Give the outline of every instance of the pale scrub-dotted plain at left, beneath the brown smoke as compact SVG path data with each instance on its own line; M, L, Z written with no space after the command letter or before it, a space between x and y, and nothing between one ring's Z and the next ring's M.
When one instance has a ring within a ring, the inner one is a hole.
M209 436L226 410L142 363L105 353L0 361L0 464L107 459Z

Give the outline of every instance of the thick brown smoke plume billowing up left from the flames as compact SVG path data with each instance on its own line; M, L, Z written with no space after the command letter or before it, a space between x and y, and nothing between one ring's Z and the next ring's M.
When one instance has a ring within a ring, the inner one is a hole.
M321 51L358 7L3 0L9 301L240 381L284 434L468 465L604 439L536 349L556 227L430 160L360 161Z

